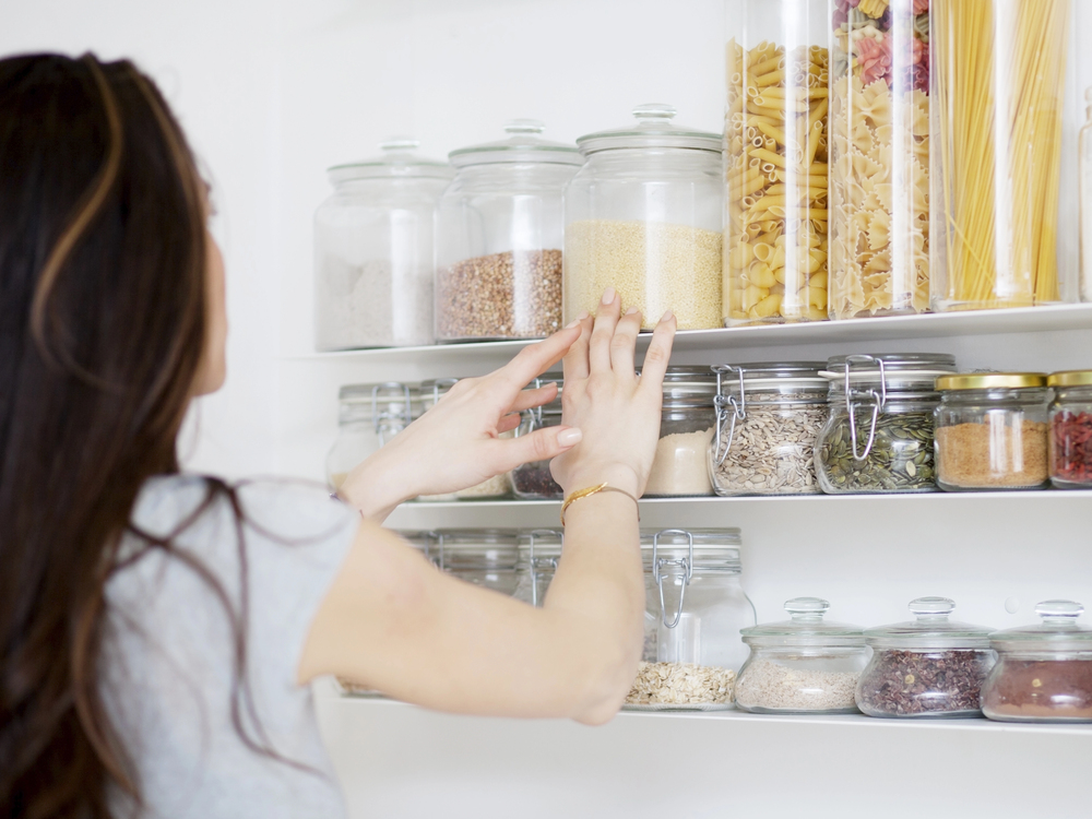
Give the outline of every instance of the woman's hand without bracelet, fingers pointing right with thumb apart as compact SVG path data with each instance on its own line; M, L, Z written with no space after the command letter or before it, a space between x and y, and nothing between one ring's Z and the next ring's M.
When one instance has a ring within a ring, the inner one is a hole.
M520 351L499 370L460 380L440 401L357 466L339 495L366 517L382 521L404 500L476 486L530 461L545 461L580 442L574 427L547 427L500 438L520 413L547 404L557 387L524 388L556 365L580 337L573 322Z

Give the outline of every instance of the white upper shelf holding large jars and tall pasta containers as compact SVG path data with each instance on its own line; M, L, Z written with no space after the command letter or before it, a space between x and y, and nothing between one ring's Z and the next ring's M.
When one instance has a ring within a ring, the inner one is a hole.
M843 344L851 342L900 341L903 339L942 339L999 333L1042 333L1055 330L1092 329L1092 304L1053 307L1019 307L1008 310L968 310L965 312L892 316L850 321L816 321L803 324L764 324L760 327L682 330L675 340L676 351L740 349L792 344ZM649 344L642 333L638 348ZM368 361L406 360L427 353L430 356L510 356L533 343L531 340L440 344L431 347L383 347L341 353L314 353L304 359L358 359Z

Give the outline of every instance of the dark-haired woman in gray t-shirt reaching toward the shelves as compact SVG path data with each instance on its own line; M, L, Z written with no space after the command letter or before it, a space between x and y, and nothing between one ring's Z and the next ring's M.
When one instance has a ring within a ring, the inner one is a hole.
M461 381L360 464L343 502L181 475L225 377L224 270L185 136L129 62L0 60L0 815L343 814L307 682L444 711L612 717L644 603L634 499L675 322L604 295ZM498 435L555 397L563 424ZM553 458L565 558L542 609L435 571L400 502ZM367 741L367 737L361 737Z

